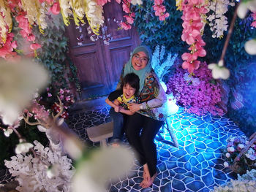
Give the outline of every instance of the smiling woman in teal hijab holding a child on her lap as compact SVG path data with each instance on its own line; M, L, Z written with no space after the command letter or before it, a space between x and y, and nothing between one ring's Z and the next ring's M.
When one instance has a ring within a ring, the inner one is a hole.
M121 73L122 78L129 73L140 77L141 104L129 104L129 115L124 125L129 144L138 153L138 160L143 165L142 188L148 188L157 176L157 147L154 137L167 116L165 91L159 83L157 75L151 68L151 51L146 46L136 47Z

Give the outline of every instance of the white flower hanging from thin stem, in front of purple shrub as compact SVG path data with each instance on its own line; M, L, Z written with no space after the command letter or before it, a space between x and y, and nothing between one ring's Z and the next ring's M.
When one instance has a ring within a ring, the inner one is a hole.
M223 60L218 64L208 64L208 69L211 69L211 74L214 79L227 80L230 77L230 71L223 66Z

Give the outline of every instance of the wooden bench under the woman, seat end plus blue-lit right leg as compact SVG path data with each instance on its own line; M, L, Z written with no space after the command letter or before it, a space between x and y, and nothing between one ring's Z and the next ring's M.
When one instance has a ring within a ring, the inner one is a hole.
M170 120L167 118L165 120L166 126L162 126L162 128L166 128L170 134L170 137L173 139L173 145L178 147L178 141L173 133L173 129L171 128ZM93 126L86 129L89 139L92 142L99 142L100 146L107 146L107 139L113 137L113 121L109 123L104 123L99 126ZM161 136L161 135L160 135ZM163 138L160 141L164 140Z

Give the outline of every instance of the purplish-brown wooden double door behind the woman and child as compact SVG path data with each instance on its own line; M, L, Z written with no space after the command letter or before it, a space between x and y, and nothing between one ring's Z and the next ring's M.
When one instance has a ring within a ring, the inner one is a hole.
M123 20L121 4L112 1L104 6L105 24L101 36L110 34L109 45L103 38L93 42L87 27L67 27L69 55L78 68L78 78L82 86L80 99L104 96L116 88L121 69L129 59L131 51L140 44L138 33L132 30L118 30L116 20ZM81 40L82 39L82 40Z

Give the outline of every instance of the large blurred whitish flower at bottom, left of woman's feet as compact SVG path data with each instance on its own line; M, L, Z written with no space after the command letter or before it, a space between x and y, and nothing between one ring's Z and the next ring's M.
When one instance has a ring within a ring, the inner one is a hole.
M78 164L72 192L103 192L110 179L125 174L133 162L132 151L126 147L102 147Z

